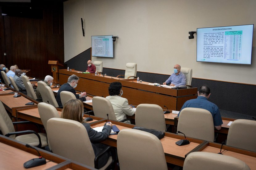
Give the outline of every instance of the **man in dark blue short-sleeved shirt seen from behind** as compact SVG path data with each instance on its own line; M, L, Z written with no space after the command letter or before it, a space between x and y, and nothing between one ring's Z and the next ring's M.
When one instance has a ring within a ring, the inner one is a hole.
M180 111L187 107L206 109L213 115L214 128L216 128L217 130L221 130L221 125L223 124L223 122L221 119L220 110L217 105L208 101L208 98L211 94L209 87L207 85L201 85L197 94L198 97L196 99L186 101ZM180 113L178 114L178 116L179 115Z

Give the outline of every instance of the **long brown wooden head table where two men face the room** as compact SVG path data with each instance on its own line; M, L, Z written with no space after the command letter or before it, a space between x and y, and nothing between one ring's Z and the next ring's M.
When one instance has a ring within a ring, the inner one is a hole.
M135 79L122 79L110 76L95 76L91 73L83 73L66 69L59 70L60 85L67 83L68 77L75 74L79 77L76 90L85 91L91 96L109 96L109 84L115 81L122 83L123 95L130 104L139 105L142 103L156 104L170 110L180 110L185 101L195 99L197 96L197 88L188 89L170 89L149 85L149 82L137 83ZM166 106L166 107L164 107Z

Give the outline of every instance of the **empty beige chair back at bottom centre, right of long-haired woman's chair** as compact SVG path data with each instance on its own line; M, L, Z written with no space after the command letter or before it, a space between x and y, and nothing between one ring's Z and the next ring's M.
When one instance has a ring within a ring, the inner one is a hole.
M163 146L153 134L137 129L122 129L117 136L120 170L167 170Z

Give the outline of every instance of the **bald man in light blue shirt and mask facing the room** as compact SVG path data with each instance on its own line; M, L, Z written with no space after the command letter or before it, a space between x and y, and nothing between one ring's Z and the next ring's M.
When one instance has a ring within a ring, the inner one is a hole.
M174 73L163 83L163 85L170 84L170 86L186 85L186 76L180 72L180 65L174 65Z

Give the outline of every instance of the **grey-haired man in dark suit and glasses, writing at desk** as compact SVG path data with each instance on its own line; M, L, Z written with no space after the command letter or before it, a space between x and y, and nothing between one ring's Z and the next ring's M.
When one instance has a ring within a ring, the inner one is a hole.
M60 100L60 92L62 92L62 91L72 92L76 96L77 99L79 99L81 101L86 101L86 99L85 99L86 92L81 92L81 94L76 94L75 88L77 86L78 81L79 81L79 77L77 77L75 74L73 74L68 77L67 83L60 86L60 89L56 96L56 101L58 102L58 105L60 107L62 107L61 100Z

